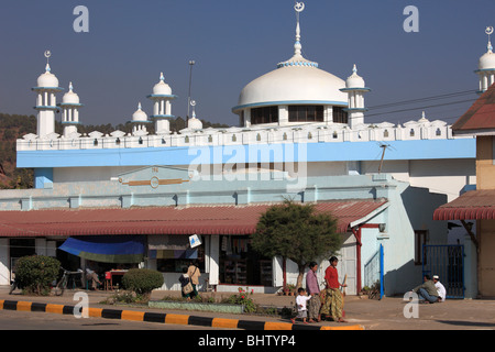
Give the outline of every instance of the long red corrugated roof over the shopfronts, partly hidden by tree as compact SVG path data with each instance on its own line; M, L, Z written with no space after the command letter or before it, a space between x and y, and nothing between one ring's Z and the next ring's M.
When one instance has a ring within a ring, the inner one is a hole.
M320 202L318 211L339 219L340 232L387 202L339 200ZM54 209L0 211L0 237L91 234L251 234L270 205L145 207L131 209Z

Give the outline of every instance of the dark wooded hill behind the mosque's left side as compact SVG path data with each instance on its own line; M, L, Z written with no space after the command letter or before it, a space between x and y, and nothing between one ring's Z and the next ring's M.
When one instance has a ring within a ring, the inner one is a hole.
M211 123L201 120L202 127L207 128L229 128L228 124ZM178 117L170 121L170 131L180 131L185 129L186 121ZM78 125L79 133L90 133L100 131L101 133L110 133L120 130L125 133L132 131L132 124L118 124L116 127L108 124L81 124ZM55 122L55 132L62 134L62 123ZM154 124L150 124L148 132L154 133ZM36 117L23 114L8 114L0 112L0 189L25 189L33 188L33 169L16 168L15 140L21 139L24 134L36 133Z

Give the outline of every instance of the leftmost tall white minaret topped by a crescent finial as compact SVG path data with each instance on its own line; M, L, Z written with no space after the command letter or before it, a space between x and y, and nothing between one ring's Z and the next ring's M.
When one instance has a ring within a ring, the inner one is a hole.
M48 63L51 55L48 51L45 52L46 72L37 78L37 86L32 88L37 94L34 109L37 110L36 134L41 139L55 133L55 112L58 110L55 95L64 90L58 87L57 77L51 73Z

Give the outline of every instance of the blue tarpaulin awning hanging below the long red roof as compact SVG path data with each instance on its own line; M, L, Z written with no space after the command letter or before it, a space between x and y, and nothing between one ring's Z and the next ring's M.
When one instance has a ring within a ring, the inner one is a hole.
M144 235L85 235L68 238L59 250L103 263L140 263L144 260Z

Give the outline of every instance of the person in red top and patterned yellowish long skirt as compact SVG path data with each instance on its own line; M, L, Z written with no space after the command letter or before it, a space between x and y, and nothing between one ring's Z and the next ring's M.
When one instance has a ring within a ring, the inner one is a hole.
M336 256L332 256L330 258L330 266L324 271L327 288L324 289L324 300L321 308L321 315L330 316L338 322L346 322L343 319L343 296L340 292L340 287L346 287L348 285L341 285L339 283L339 273L337 272L338 263L339 260Z

